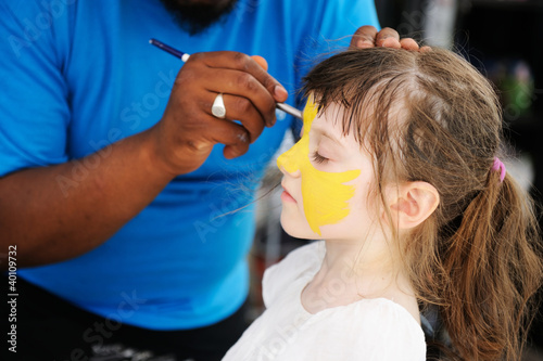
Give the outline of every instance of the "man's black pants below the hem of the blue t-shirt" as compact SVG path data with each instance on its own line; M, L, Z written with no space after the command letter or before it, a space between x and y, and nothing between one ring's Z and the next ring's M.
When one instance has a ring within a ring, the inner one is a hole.
M5 278L2 281L8 284ZM247 327L247 302L226 320L206 327L150 331L86 312L21 278L17 292L16 320L8 324L16 325L16 353L4 339L8 358L3 360L214 361L222 359ZM2 319L8 320L13 302L3 304Z

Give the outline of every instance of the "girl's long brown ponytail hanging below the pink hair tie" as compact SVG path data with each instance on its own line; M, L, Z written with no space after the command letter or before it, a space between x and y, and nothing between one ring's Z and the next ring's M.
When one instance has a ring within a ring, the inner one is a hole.
M442 240L442 321L464 360L520 360L542 280L533 204L509 176L490 171L456 232Z

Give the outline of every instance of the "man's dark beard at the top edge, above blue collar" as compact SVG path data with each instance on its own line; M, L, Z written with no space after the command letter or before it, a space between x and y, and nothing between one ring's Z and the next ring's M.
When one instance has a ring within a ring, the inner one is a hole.
M211 25L230 13L237 0L226 3L191 3L182 0L161 0L174 21L190 35L203 33Z

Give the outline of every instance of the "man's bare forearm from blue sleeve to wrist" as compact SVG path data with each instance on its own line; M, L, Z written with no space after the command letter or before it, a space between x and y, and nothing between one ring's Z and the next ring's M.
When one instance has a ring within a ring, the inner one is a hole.
M153 147L148 131L110 145L108 156L98 152L1 178L2 249L16 245L17 265L25 267L68 259L103 243L172 179L157 167Z

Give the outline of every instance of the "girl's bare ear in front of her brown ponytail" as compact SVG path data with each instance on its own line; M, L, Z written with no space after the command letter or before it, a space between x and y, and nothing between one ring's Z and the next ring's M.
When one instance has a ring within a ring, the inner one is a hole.
M408 182L395 188L390 199L394 224L400 230L412 229L422 223L438 208L440 195L427 182Z

